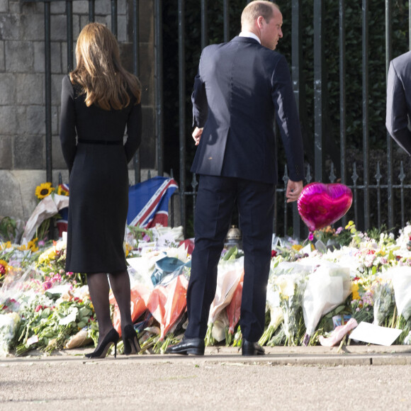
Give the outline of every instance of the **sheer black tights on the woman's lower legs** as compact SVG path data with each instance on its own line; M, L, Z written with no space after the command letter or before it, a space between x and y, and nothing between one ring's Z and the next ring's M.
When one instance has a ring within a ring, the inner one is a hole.
M110 278L110 283L108 278ZM108 276L106 273L91 273L87 274L87 284L89 285L91 302L98 320L98 347L103 338L113 328L108 301L110 286L120 310L122 332L126 325L133 325L130 308L130 276L126 270L117 271L108 274Z

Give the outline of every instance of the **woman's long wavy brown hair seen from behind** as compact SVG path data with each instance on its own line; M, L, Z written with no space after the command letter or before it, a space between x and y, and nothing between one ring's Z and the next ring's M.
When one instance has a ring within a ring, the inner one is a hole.
M140 103L140 81L120 62L118 43L101 23L84 26L77 39L77 67L69 75L86 94L86 106L120 110L130 104L130 91Z

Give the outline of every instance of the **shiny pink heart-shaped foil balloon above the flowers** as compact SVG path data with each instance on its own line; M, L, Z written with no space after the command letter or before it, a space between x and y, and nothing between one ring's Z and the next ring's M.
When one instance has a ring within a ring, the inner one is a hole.
M344 184L310 183L298 198L298 213L310 231L335 223L347 213L352 192Z

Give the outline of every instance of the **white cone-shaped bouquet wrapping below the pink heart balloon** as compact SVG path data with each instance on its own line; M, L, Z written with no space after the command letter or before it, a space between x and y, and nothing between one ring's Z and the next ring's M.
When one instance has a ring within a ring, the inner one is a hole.
M308 276L303 296L305 333L315 332L321 317L344 303L351 293L349 268L322 261Z

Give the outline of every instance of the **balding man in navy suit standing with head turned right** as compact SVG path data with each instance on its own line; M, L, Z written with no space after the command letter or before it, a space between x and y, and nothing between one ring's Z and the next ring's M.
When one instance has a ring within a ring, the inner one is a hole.
M290 69L274 52L283 37L276 4L252 1L242 12L242 33L205 47L194 81L191 171L199 175L195 247L187 290L188 327L169 354L204 354L217 266L237 200L244 250L240 313L242 354L264 354L266 286L271 260L277 183L274 121L288 162L286 197L303 189L303 142Z

